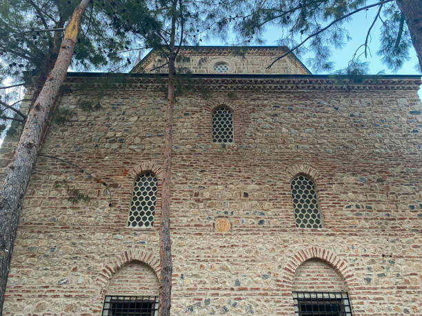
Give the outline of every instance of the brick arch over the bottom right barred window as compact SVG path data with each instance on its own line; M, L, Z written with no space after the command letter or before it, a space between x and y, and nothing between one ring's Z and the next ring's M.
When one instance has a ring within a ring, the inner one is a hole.
M347 262L337 257L332 251L317 246L298 251L290 258L288 263L285 264L282 282L286 291L292 292L294 273L296 273L297 268L299 268L303 262L310 259L321 259L325 261L339 273L345 282L345 286L348 288L348 292L353 293L353 291L355 291L358 282L356 277L354 277L353 272L348 267Z

